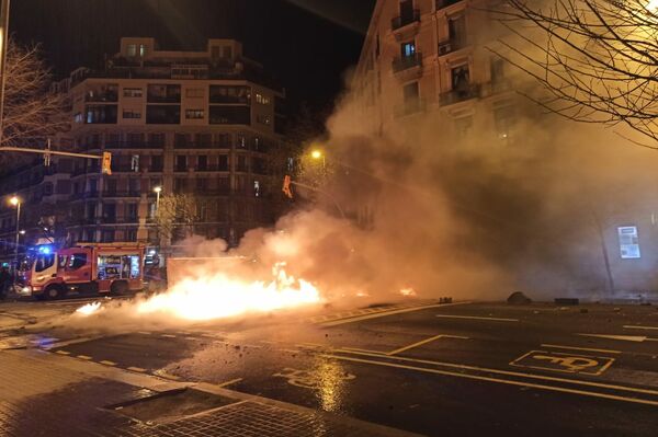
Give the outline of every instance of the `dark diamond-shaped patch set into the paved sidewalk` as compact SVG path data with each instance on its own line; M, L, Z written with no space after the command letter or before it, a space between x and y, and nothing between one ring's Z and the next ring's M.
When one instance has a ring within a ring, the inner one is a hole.
M230 405L235 399L219 396L198 390L181 389L158 393L107 409L141 422L169 423L192 414Z

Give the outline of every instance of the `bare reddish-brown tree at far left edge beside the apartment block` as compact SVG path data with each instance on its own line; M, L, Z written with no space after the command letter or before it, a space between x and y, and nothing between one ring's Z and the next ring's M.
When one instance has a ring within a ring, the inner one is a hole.
M24 146L65 130L66 95L49 90L50 70L38 46L10 42L5 66L1 146Z

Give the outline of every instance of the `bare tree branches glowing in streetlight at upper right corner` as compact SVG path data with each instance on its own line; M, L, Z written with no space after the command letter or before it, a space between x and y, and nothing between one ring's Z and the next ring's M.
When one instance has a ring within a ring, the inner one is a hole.
M496 14L514 37L494 51L547 90L529 97L578 122L625 124L658 149L655 1L507 0Z

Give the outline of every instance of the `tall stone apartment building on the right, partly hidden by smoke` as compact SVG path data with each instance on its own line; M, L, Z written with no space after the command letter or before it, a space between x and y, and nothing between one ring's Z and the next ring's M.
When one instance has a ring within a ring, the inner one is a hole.
M364 114L360 126L411 147L431 142L436 154L485 148L500 174L538 165L540 177L541 162L524 154L534 138L523 123L538 125L549 115L517 93L521 89L541 95L541 90L498 56L506 53L500 42L509 32L487 11L492 4L490 0L378 0L352 83L354 104ZM570 131L582 125L572 125ZM420 135L426 139L431 135L433 141L415 142ZM544 133L547 136L551 133ZM560 146L578 147L578 142ZM583 219L591 217L593 206L572 212L579 233L569 238L575 245L581 243L583 255L570 260L567 269L591 269L609 283L605 277L611 276L615 289L658 289L658 197L646 189L655 185L647 180L615 186L614 195L595 205L595 220ZM604 258L610 275L604 273ZM593 289L601 283L575 287Z

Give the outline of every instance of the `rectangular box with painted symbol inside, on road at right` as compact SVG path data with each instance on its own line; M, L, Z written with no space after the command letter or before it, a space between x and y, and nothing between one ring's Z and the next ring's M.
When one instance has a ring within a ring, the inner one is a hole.
M599 376L608 370L612 366L612 363L614 363L614 358L531 350L514 359L510 363L510 366Z

